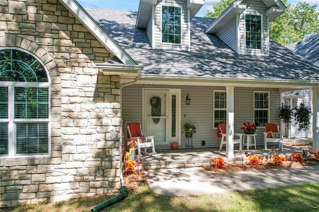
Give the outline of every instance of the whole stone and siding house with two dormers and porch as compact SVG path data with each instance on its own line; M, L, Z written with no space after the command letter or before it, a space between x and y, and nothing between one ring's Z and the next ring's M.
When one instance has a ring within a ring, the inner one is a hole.
M319 68L269 41L280 0L236 0L217 19L195 17L203 3L0 1L0 207L118 191L129 122L156 148L184 148L184 123L193 147L217 147L226 122L233 157L243 122L258 124L259 145L263 124L280 122L282 92L312 89L319 111Z

